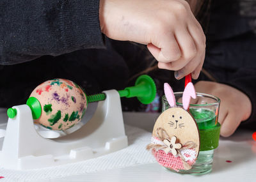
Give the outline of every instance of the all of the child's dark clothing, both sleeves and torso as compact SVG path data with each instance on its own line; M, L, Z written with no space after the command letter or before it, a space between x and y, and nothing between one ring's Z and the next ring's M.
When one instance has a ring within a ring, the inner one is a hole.
M241 125L256 128L256 36L251 24L256 15L241 15L242 1L225 2L211 4L204 69L249 96L252 116ZM2 0L0 20L0 107L25 103L38 84L53 78L73 80L87 93L123 89L132 86L134 80L128 80L133 75L157 64L145 46L102 36L98 0ZM174 91L184 89L184 80L175 80L173 72L157 69L149 75L160 96L164 82ZM199 80L209 78L201 73ZM124 110L145 109L136 98L124 99L122 105Z

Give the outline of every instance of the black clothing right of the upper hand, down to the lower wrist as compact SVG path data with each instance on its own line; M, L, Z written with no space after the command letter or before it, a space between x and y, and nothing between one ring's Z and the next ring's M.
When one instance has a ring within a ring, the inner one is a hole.
M245 93L252 115L241 123L256 128L256 1L214 0L204 68L218 82ZM237 103L239 104L239 103Z

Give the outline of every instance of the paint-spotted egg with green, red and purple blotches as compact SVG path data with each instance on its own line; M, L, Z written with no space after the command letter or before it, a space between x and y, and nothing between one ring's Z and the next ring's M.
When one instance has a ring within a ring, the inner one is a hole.
M53 79L37 86L30 96L42 107L38 123L52 130L67 130L83 118L87 107L86 95L76 83Z

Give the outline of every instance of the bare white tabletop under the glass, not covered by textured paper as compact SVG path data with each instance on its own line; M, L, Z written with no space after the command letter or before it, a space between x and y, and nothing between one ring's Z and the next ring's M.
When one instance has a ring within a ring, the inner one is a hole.
M158 114L125 112L125 123L152 131ZM194 176L170 172L158 163L136 165L123 169L54 178L42 181L256 181L256 142L253 131L237 130L232 137L221 138L214 151L212 172ZM231 163L226 160L232 161Z

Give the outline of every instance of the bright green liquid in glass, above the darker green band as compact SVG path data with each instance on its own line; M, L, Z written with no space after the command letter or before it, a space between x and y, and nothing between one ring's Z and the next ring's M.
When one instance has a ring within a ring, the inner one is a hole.
M216 125L216 115L211 110L190 107L189 112L195 118L199 130L212 128Z

